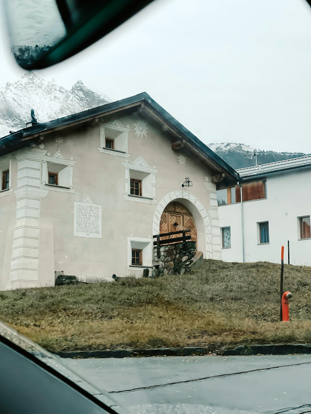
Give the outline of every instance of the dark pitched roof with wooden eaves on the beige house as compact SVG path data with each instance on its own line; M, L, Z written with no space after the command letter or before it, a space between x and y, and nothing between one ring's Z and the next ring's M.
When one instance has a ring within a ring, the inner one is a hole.
M145 118L149 118L152 123L160 126L172 141L180 141L181 147L185 147L187 152L192 153L197 161L209 168L212 173L224 173L224 184L235 183L239 180L238 173L231 166L165 111L146 92L12 132L0 138L0 156L37 142L40 135L77 125L109 113L129 108L135 109L137 106L140 106L140 112Z

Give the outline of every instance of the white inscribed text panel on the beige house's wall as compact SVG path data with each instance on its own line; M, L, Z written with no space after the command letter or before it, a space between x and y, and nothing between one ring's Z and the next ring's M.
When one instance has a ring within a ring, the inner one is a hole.
M102 238L102 206L75 201L73 236Z

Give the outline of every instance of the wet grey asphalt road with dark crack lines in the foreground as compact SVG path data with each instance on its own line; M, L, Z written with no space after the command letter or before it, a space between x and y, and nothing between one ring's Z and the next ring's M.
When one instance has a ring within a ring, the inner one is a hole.
M311 413L311 355L62 361L131 413Z

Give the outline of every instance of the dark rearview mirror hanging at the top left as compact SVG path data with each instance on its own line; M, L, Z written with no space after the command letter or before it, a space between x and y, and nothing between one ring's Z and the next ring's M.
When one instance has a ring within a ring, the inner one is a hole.
M4 0L11 49L23 69L75 55L153 0Z

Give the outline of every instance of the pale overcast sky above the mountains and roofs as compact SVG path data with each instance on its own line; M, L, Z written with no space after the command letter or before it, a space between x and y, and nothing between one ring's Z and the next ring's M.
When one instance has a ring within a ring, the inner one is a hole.
M1 81L23 71L0 41ZM113 100L146 91L200 140L311 153L311 9L304 0L156 0L42 73Z

